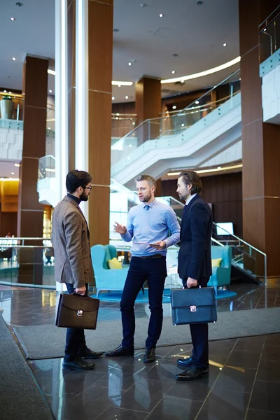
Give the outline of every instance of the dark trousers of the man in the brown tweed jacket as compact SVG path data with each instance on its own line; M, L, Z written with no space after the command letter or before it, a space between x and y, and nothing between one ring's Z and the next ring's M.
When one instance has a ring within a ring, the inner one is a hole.
M71 295L74 292L74 285L71 283L65 284L69 295ZM85 287L87 293L87 283ZM83 299L83 297L80 298ZM85 330L83 330L82 328L67 328L64 360L73 360L85 348Z

